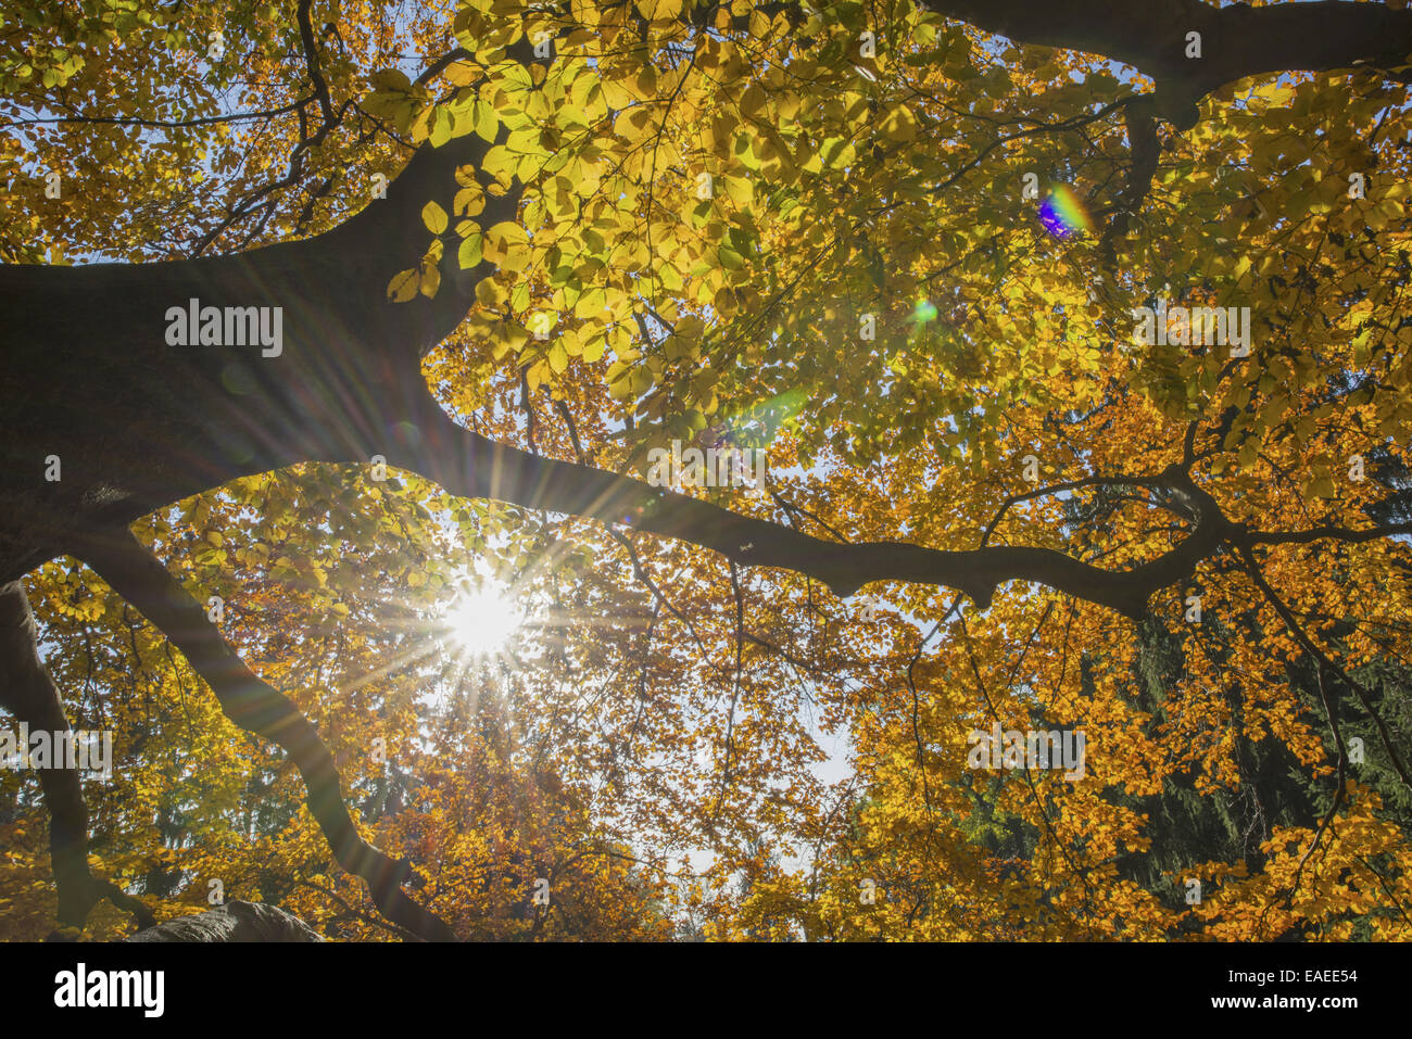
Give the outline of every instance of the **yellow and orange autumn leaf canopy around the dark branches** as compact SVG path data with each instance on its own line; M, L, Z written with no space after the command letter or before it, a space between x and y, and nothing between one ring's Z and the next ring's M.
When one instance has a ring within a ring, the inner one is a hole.
M316 460L138 521L459 937L1412 937L1405 73L1238 79L1183 127L1099 48L945 3L18 7L7 264L313 237L479 136L385 285L496 265L422 360L462 425L634 479L674 440L764 449L764 488L676 493L823 542L1182 560L1139 611L1027 577L840 597ZM1139 342L1156 301L1250 308L1250 356ZM491 652L445 621L467 575L522 615ZM405 936L140 611L69 556L25 590L71 724L113 733L95 872L158 919L219 888ZM1082 728L1083 776L969 768L995 723ZM38 783L0 771L0 936L54 926Z

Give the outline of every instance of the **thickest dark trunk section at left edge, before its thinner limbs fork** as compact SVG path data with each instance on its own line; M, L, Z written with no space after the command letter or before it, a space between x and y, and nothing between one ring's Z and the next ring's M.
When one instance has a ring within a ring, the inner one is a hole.
M378 453L404 402L425 392L419 357L494 267L462 271L450 247L435 299L393 304L387 285L432 240L422 208L455 212L456 169L479 169L490 147L467 136L421 148L385 199L370 188L361 212L304 241L155 264L0 265L0 582L89 529L240 476ZM517 208L518 192L491 195L479 219L514 220ZM278 308L280 352L169 346L167 311L192 299ZM42 479L49 456L62 480Z

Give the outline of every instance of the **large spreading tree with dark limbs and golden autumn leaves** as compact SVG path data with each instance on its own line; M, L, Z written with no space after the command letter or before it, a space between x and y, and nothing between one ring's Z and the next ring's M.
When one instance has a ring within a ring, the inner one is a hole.
M513 757L549 755L610 858L651 836L658 877L706 844L758 877L720 933L802 898L767 868L789 843L836 892L806 932L871 879L870 933L1161 933L1103 792L1238 786L1257 733L1327 806L1258 877L1209 864L1244 899L1216 933L1353 888L1402 933L1405 841L1339 724L1408 782L1368 671L1408 623L1378 476L1412 419L1401 7L470 0L455 48L449 11L376 4L17 11L0 706L69 728L28 597L109 635L131 607L181 655L157 683L189 668L289 755L381 916L452 937L455 898L349 813L377 730L340 714L390 675L405 710L474 558L545 624ZM771 474L654 486L674 442ZM840 601L866 586L881 614ZM1123 676L1154 617L1187 634L1148 727ZM90 652L49 652L71 703ZM815 703L854 743L833 789ZM1082 721L1090 778L986 789L983 721ZM95 872L78 774L38 778L58 922L148 912ZM1041 836L998 857L986 819Z

